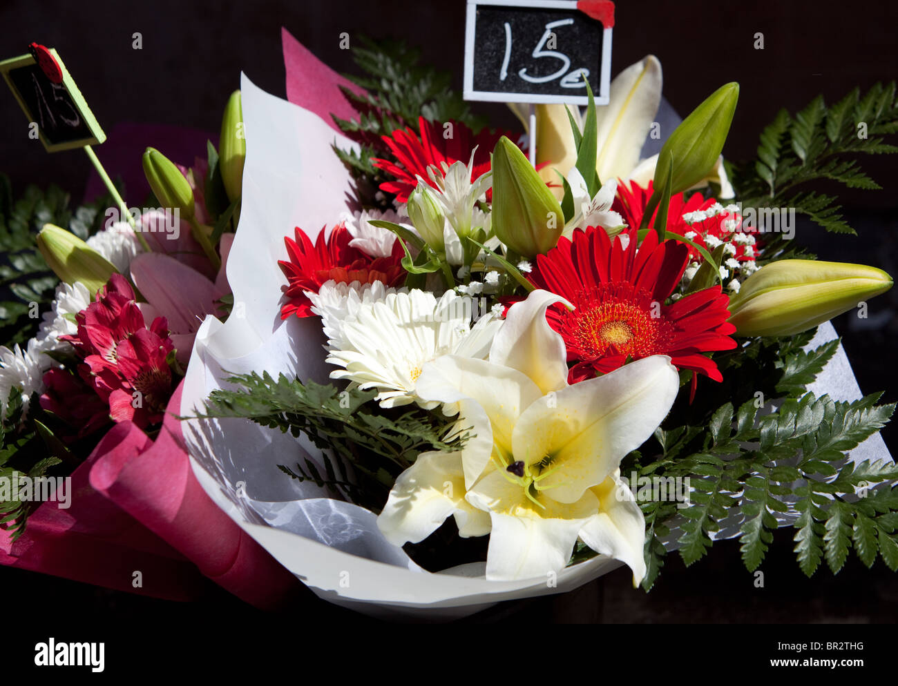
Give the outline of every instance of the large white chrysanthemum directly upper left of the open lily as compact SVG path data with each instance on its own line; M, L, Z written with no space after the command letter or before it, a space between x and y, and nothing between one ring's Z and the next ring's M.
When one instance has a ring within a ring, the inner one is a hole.
M471 298L446 291L436 299L426 291L389 293L383 300L358 303L340 324L328 361L361 388L377 388L382 407L418 402L415 386L424 365L443 355L483 359L502 321L489 312L471 326ZM436 407L437 403L424 403Z

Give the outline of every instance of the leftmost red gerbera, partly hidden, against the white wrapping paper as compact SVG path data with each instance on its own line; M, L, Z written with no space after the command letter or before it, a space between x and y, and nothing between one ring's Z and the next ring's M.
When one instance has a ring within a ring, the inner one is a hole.
M313 317L312 301L306 293L317 293L324 282L365 284L379 281L396 286L405 276L401 265L405 252L399 240L393 243L391 256L374 258L349 245L352 234L342 223L330 231L327 239L321 229L314 245L298 226L295 235L295 240L284 237L290 260L277 260L289 282L281 286L287 299L281 306L281 319L294 314L296 317Z

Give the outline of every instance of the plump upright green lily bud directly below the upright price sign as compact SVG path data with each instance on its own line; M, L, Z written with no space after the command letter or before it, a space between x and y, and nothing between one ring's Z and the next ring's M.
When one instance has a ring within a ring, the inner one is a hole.
M492 168L492 226L498 239L528 259L549 252L564 229L555 195L506 136L496 143Z

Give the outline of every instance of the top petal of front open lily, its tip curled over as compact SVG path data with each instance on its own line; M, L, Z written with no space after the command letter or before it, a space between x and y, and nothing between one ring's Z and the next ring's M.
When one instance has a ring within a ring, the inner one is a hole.
M546 308L568 300L549 291L533 291L508 309L489 351L489 361L524 372L542 393L568 385L568 352L564 340L546 321Z

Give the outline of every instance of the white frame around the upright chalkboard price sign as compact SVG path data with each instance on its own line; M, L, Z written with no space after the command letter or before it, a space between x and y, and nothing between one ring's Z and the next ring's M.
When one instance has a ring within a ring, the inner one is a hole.
M477 6L498 5L504 7L533 7L550 10L576 10L577 0L468 0L464 22L464 99L487 102L561 102L572 105L588 105L584 96L541 95L540 93L491 92L474 90L474 23ZM594 94L596 105L607 105L611 90L612 76L612 29L605 28L602 35L602 74L599 77L599 92Z

